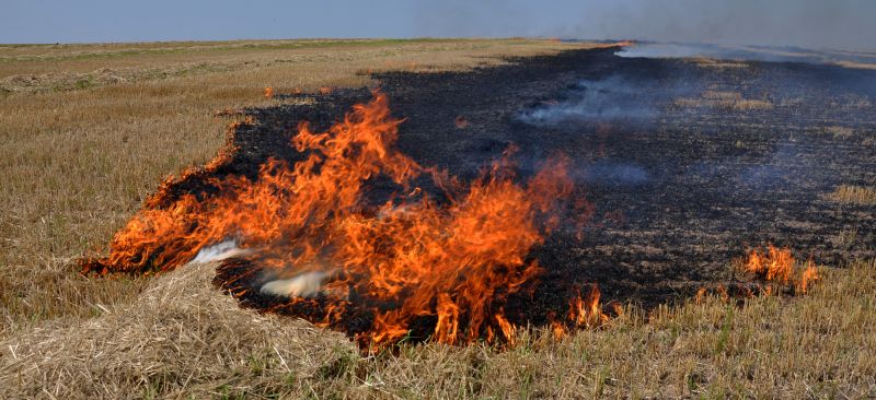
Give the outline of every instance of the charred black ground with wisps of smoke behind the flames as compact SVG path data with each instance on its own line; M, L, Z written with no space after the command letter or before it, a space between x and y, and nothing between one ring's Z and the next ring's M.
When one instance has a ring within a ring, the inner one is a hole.
M835 267L876 256L874 208L825 199L838 185L876 185L876 71L771 62L719 69L621 58L615 50L565 51L473 72L374 77L393 114L406 118L400 150L422 165L473 178L511 143L520 148L522 177L549 154L573 157L576 196L596 205L595 217L583 240L561 230L532 254L546 271L531 297L510 302L510 317L539 323L548 310L563 313L576 284L598 283L603 299L646 306L690 295L708 282L733 281L728 262L766 243ZM583 81L608 82L608 89ZM675 103L705 91L773 107ZM618 101L613 92L629 103L620 110L546 122L521 118L581 104L583 96ZM299 120L327 128L370 96L368 89L343 90L314 96L312 105L249 110L258 125L239 128L240 151L218 174L255 176L268 156L299 160L288 145ZM458 116L468 127L454 125ZM834 138L825 132L830 126L854 133ZM193 179L174 191L204 189ZM840 243L853 231L854 242ZM220 275L234 271L229 266ZM273 302L256 291L242 301L260 308Z

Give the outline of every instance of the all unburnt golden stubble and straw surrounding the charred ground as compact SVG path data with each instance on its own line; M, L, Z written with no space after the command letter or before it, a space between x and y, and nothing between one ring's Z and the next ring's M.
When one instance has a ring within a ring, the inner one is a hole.
M265 86L371 85L368 70L464 69L572 46L585 45L0 46L0 398L876 396L874 262L825 269L802 298L742 308L713 298L652 315L631 305L608 328L562 341L525 332L508 351L427 344L371 356L337 333L240 309L209 284L211 266L93 281L70 266L162 177L216 153L241 118L217 110L283 102ZM698 101L766 107L730 94Z

